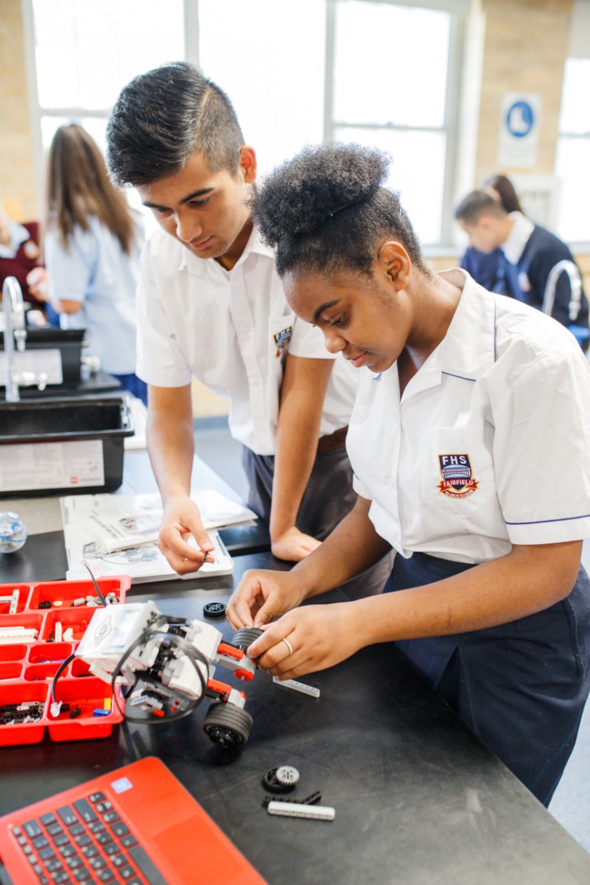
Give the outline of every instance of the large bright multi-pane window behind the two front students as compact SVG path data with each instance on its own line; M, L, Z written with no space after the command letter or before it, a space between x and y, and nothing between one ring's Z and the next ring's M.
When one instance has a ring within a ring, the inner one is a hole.
M307 143L374 145L392 157L388 186L422 242L448 242L459 17L419 2L27 0L43 150L71 121L104 148L125 83L169 60L198 60L235 105L259 174Z

